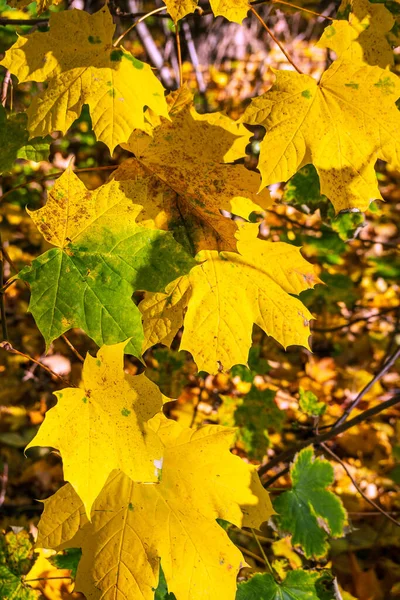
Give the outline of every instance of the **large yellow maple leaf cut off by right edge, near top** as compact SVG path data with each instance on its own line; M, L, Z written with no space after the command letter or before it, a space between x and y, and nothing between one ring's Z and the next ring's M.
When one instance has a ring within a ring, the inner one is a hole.
M341 60L319 83L295 72L275 74L271 90L255 98L242 117L267 130L260 146L262 186L287 181L312 163L321 193L337 211L366 210L381 198L376 160L400 168L398 77Z

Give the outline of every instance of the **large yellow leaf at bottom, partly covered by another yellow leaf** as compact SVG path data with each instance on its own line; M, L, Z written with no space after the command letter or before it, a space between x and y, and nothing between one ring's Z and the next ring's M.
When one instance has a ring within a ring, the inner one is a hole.
M92 521L66 544L81 546L76 589L88 599L141 597L153 600L160 559L177 600L232 598L236 576L245 565L240 551L216 522L256 527L273 509L257 471L229 452L234 430L208 425L197 431L156 417L152 422L165 446L159 485L133 483L111 474L92 512ZM195 468L194 468L195 466ZM62 527L81 507L64 503L62 491L45 504L41 532ZM58 506L58 512L51 506ZM54 523L55 519L55 523Z

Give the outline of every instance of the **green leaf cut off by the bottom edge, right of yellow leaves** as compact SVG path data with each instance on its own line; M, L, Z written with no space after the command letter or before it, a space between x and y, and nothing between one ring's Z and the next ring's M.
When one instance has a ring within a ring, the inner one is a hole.
M317 573L290 571L282 583L269 573L257 573L238 586L236 600L319 600L315 588Z

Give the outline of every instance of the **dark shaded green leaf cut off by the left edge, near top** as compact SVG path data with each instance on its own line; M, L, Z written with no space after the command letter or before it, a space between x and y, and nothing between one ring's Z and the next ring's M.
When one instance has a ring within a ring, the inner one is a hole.
M25 113L11 115L8 119L0 105L0 173L9 171L17 158L39 162L49 155L51 138L36 137L28 141L26 129L28 118Z

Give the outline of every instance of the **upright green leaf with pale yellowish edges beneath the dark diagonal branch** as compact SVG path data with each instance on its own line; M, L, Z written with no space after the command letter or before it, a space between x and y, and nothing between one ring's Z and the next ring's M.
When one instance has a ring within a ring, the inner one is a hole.
M274 502L281 529L292 534L307 558L324 556L328 550L328 533L318 523L323 519L333 537L341 536L346 512L341 500L326 488L332 485L332 465L315 458L312 447L297 455L291 470L293 488Z

